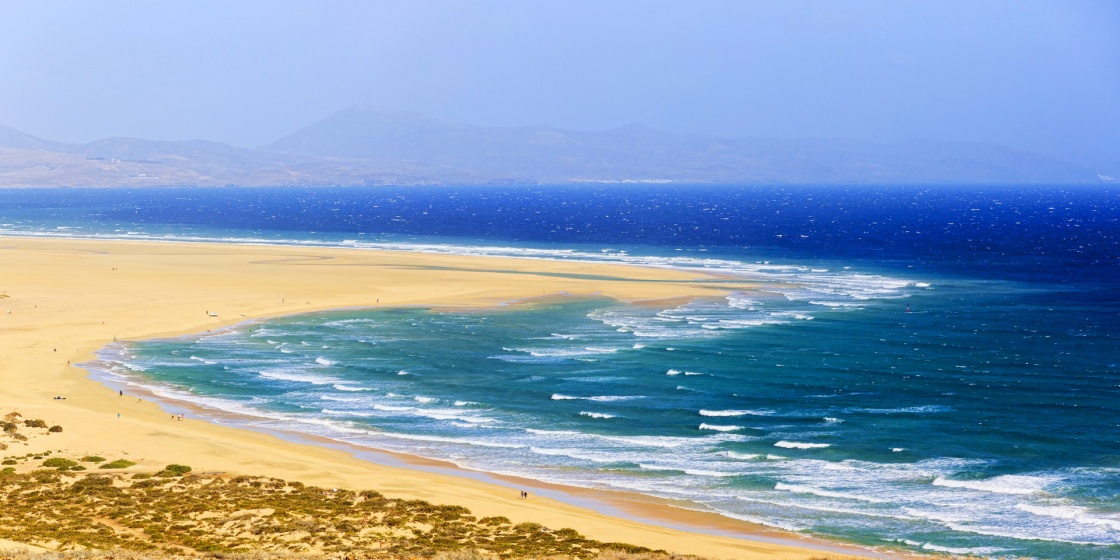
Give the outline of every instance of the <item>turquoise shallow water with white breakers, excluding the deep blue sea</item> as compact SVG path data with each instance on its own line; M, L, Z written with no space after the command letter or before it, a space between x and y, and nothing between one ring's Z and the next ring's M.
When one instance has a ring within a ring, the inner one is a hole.
M348 310L99 367L262 428L861 544L1117 554L1117 340L1091 309L1063 324L1045 290L815 270L830 293Z

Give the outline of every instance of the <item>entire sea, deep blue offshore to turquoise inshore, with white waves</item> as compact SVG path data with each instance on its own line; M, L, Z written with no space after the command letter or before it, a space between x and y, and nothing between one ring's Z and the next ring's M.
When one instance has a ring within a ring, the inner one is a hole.
M870 547L1120 558L1120 190L3 190L0 234L628 262L750 279L650 308L345 310L113 345L250 426Z

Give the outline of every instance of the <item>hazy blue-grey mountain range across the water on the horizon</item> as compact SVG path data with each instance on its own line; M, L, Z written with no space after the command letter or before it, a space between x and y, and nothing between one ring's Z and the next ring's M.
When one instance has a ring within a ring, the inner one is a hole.
M204 140L44 140L0 125L0 187L573 183L1085 184L1004 146L476 127L355 105L256 149Z

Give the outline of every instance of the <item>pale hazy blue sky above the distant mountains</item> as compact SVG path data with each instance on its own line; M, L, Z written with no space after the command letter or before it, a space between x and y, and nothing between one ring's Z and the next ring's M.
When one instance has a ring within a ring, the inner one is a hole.
M479 125L993 142L1120 177L1120 2L0 0L0 123L270 143Z

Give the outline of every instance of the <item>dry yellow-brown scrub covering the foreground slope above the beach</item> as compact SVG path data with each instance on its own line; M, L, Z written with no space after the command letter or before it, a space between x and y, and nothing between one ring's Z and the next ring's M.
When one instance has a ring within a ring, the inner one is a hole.
M461 554L590 559L627 552L669 558L642 547L586 539L571 529L515 525L503 517L477 520L465 507L391 500L373 491L325 489L268 477L56 469L0 474L0 539L74 554L83 550L270 558L452 553L460 556L448 560L458 560L465 558Z

